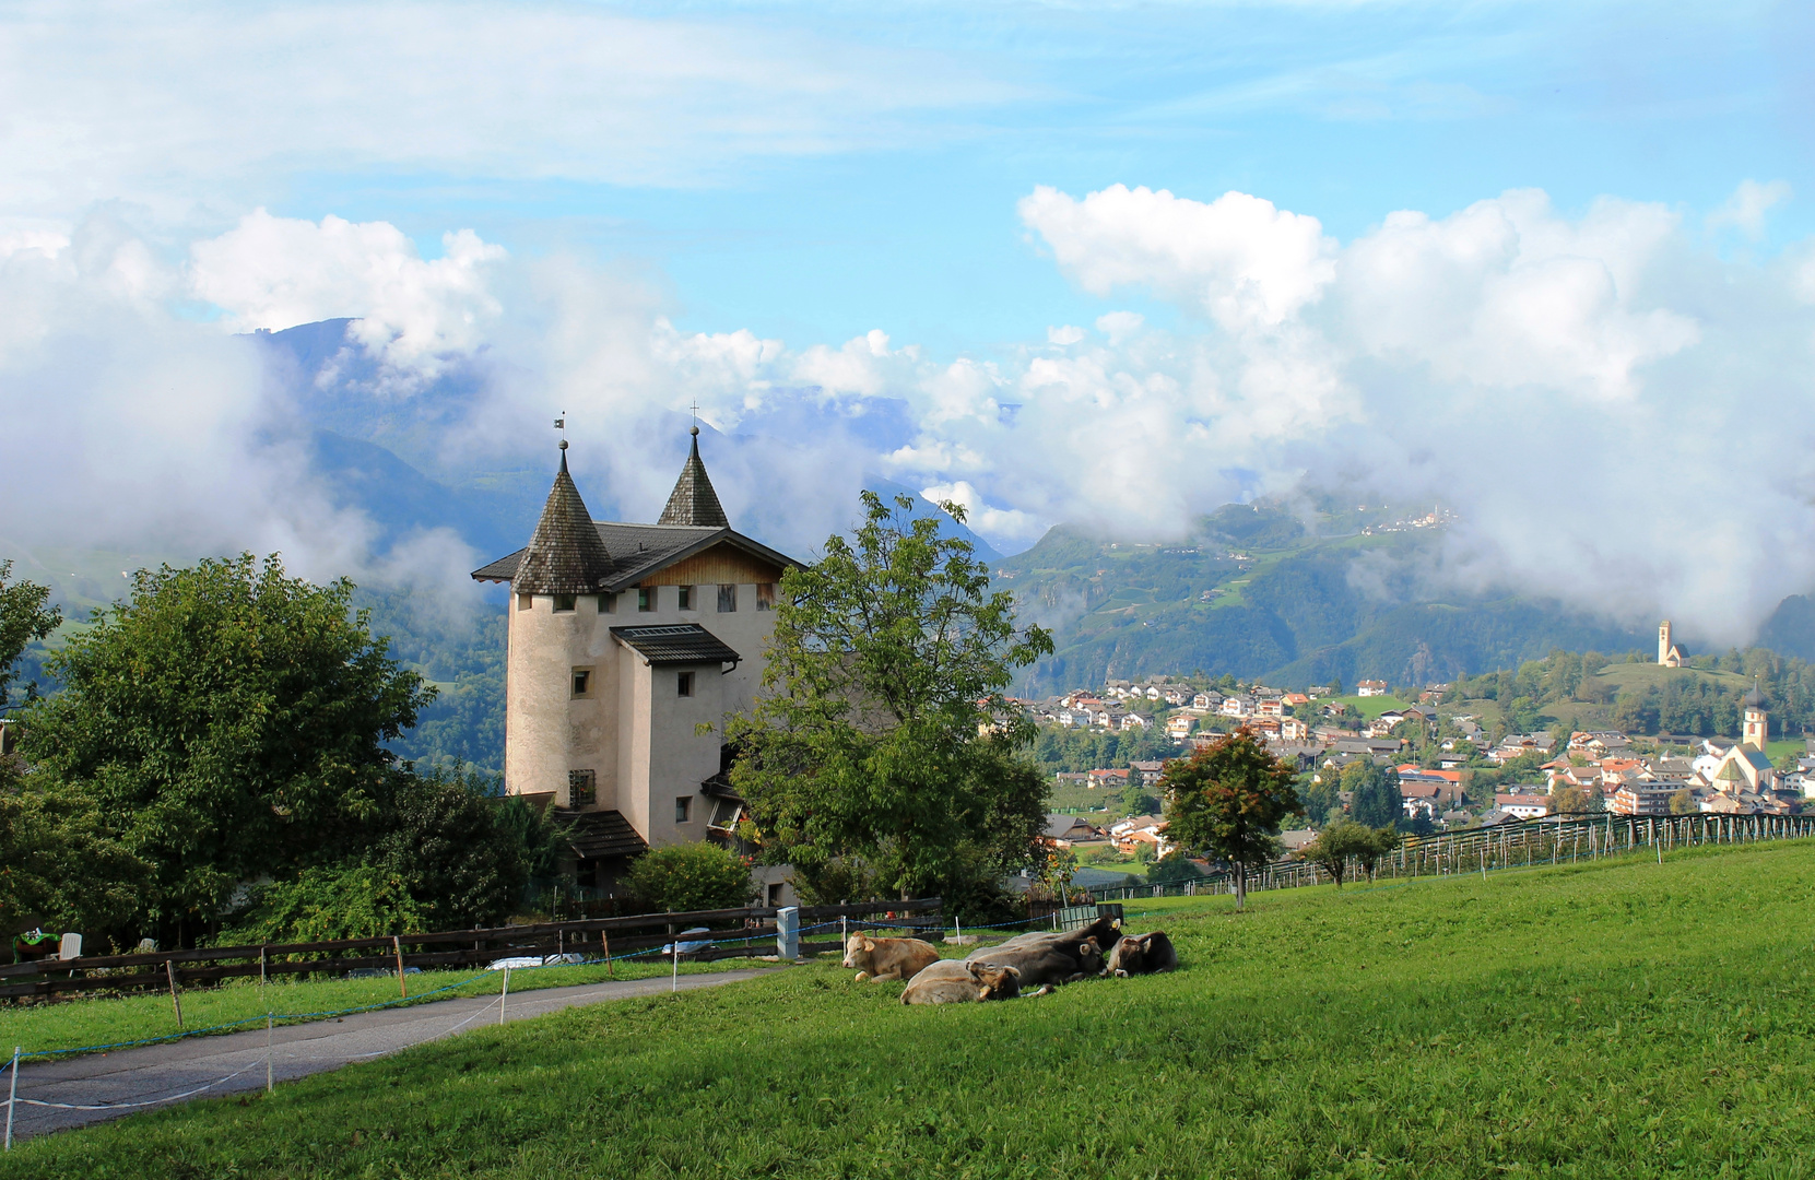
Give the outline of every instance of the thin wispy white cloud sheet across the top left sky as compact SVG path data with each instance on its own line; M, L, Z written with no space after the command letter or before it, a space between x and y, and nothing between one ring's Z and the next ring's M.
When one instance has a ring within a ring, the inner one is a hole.
M0 211L125 196L207 220L310 169L692 185L751 158L926 142L940 113L1016 94L946 54L759 18L16 4L0 13Z

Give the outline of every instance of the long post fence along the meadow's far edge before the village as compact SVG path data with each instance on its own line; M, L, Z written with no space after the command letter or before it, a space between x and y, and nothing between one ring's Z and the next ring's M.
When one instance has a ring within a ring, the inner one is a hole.
M1668 851L1702 844L1751 844L1815 835L1815 815L1617 815L1603 811L1575 819L1508 821L1494 828L1408 837L1376 862L1376 877L1416 879L1483 873L1537 864L1577 862L1637 850ZM1329 870L1312 860L1283 859L1249 873L1247 891L1296 890L1329 884ZM1232 891L1227 870L1196 880L1107 886L1089 890L1093 900L1136 897L1192 897Z

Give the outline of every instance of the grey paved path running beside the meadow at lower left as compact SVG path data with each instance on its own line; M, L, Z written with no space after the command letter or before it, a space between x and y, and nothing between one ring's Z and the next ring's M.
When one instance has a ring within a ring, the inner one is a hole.
M773 971L775 968L766 969ZM682 975L681 989L713 988L753 978L762 971L764 968ZM661 995L668 989L668 978L543 988L512 995L505 1008L505 1018L530 1020L563 1008ZM314 1024L278 1026L270 1033L270 1073L278 1082L290 1082L486 1024L497 1024L497 997L437 1000L414 1008L363 1011ZM265 1029L27 1062L18 1071L20 1102L13 1118L13 1140L122 1118L142 1109L163 1109L189 1098L214 1098L263 1086ZM31 1106L25 1102L27 1098L105 1109ZM0 1116L4 1116L4 1106L5 1089L0 1087Z

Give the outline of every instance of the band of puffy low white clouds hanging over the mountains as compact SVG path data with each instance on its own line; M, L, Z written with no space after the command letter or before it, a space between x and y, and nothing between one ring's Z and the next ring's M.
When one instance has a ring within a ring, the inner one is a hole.
M1741 187L1717 221L1755 234L1782 198ZM648 516L697 403L730 436L710 461L733 517L802 554L866 472L964 503L1002 548L1060 521L1180 536L1309 481L1459 512L1452 585L1668 614L1710 643L1815 585L1806 243L1722 258L1672 209L1566 214L1535 191L1390 212L1347 243L1240 192L1036 189L1020 216L1080 287L1171 301L1182 327L1111 305L942 359L886 325L682 332L635 276L461 229L423 258L383 221L254 211L174 260L105 212L20 231L0 238L0 496L29 506L9 539L401 575L309 470L296 390L236 336L352 316L345 372L379 376L336 396L428 423L425 470L546 467L564 410L588 496ZM388 552L448 577L472 556L436 534Z

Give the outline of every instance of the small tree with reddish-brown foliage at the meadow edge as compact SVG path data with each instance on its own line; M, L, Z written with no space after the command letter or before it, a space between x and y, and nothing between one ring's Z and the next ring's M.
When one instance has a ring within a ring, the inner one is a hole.
M1169 762L1160 779L1165 835L1234 870L1236 910L1247 904L1247 871L1278 853L1280 824L1305 811L1296 779L1247 726Z

